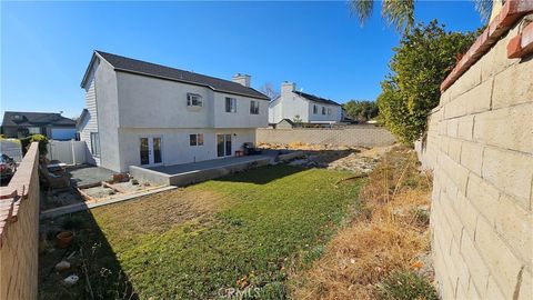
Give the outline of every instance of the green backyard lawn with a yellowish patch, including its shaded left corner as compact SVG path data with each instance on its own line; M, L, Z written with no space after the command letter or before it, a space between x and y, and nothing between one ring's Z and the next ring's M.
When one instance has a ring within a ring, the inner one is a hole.
M263 167L54 220L77 228L77 240L41 251L41 298L283 299L288 274L319 258L358 208L360 182L341 181L350 176ZM71 258L80 281L58 288L69 273L50 266L80 247Z

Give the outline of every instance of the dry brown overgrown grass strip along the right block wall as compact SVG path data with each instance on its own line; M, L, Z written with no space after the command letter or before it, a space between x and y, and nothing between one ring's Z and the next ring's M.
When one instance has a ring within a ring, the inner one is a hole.
M294 299L375 299L376 284L394 270L418 271L430 250L431 178L416 154L395 147L360 192L363 209L308 270L292 276ZM425 266L426 267L426 266Z

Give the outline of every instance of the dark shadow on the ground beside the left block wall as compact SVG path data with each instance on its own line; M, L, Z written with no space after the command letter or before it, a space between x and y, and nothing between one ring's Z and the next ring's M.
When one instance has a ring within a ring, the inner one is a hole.
M64 230L74 238L60 249L56 234ZM138 299L90 210L41 220L39 232L39 299ZM58 271L62 260L70 268ZM69 276L78 282L66 284Z

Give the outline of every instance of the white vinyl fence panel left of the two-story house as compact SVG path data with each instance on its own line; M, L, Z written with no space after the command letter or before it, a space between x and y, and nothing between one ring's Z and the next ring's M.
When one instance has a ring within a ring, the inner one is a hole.
M49 160L59 160L67 164L88 162L87 146L84 141L54 141L48 143Z

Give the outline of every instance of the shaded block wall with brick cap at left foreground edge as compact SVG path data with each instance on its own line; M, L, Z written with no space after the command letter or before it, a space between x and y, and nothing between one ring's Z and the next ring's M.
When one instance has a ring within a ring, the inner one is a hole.
M0 300L37 299L38 146L33 143L0 194Z

